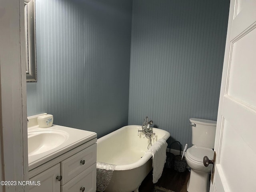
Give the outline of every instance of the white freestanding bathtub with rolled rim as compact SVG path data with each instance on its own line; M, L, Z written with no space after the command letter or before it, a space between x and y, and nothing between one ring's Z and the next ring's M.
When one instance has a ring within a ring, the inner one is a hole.
M170 133L158 129L150 128L158 139L167 140ZM97 162L116 165L112 178L105 192L138 192L141 182L152 170L152 154L146 153L150 140L143 138L143 134L138 136L139 125L124 126L97 141Z

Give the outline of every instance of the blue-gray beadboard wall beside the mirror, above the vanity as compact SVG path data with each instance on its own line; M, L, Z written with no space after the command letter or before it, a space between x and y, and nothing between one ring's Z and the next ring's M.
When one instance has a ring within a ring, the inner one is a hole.
M38 82L28 116L97 132L128 123L132 0L36 0Z

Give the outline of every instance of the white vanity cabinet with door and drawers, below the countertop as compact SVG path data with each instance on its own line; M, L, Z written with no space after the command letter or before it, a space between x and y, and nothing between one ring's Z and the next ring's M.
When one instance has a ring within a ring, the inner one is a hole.
M96 138L29 171L30 192L95 192Z

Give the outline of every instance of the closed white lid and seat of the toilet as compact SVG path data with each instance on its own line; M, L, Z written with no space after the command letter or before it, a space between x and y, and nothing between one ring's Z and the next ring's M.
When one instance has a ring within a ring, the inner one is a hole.
M204 156L208 156L210 160L213 159L213 150L193 145L187 149L186 155L195 161L203 162Z

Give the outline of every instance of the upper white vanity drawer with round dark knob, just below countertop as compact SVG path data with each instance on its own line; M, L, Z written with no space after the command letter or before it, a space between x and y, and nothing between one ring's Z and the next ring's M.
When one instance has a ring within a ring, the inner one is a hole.
M96 162L97 144L94 143L84 150L60 162L61 185L86 170ZM96 169L95 169L96 170Z

